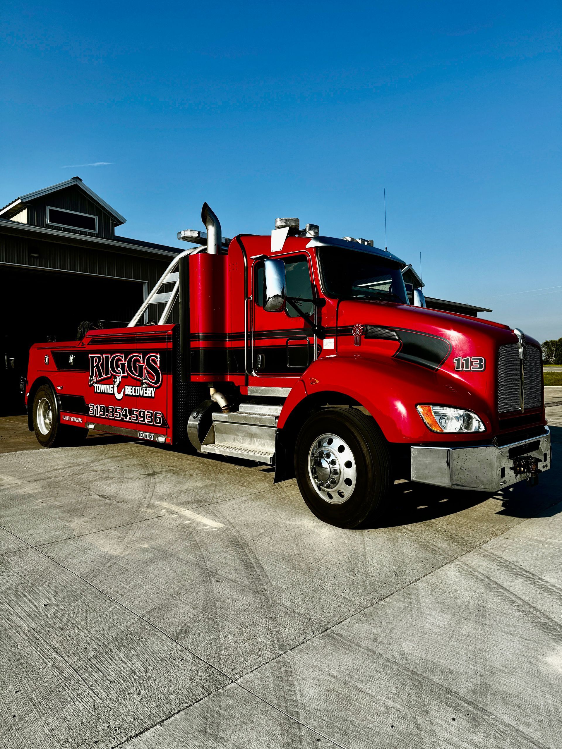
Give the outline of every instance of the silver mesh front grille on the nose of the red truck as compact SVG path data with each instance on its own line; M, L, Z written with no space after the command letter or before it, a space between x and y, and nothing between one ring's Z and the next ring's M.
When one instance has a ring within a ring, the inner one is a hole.
M543 404L543 363L540 350L527 346L524 366L525 410ZM508 343L498 351L498 413L521 409L519 345Z

